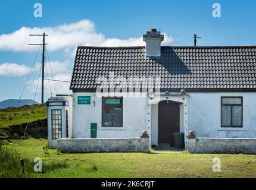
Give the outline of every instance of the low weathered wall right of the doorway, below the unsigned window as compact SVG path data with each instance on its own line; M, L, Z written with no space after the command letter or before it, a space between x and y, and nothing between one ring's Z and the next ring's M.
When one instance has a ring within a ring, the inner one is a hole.
M188 138L188 152L256 154L256 138Z

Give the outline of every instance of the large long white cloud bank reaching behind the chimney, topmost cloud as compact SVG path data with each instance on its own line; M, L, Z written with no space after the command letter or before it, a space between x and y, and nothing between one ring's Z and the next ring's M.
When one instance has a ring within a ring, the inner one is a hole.
M40 43L42 37L29 36L29 34L49 34L46 37L48 50L68 50L74 52L78 45L85 46L143 46L141 37L129 39L106 38L104 34L97 33L95 24L90 20L81 20L76 23L63 24L57 27L21 27L10 34L0 35L0 50L36 51L38 48L29 46L29 43ZM169 45L173 38L163 33L163 45Z

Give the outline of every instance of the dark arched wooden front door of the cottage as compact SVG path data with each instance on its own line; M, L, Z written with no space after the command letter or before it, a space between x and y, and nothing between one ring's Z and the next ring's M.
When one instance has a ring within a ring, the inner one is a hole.
M179 103L164 100L158 105L158 144L173 146L173 133L180 131Z

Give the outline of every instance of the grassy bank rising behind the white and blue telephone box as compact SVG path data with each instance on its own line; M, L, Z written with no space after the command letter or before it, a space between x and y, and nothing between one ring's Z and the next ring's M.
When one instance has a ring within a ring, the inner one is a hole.
M10 107L0 109L0 128L8 128L11 125L26 124L27 121L33 122L39 119L46 118L46 105L33 105L33 110L30 112L31 106Z

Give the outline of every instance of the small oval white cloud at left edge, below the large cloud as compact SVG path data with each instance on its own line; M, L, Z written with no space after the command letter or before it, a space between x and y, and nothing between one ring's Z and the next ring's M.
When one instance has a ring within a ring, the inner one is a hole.
M5 62L0 65L0 75L23 76L30 72L29 66Z

